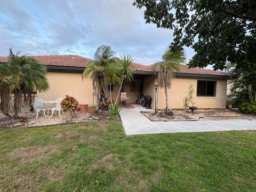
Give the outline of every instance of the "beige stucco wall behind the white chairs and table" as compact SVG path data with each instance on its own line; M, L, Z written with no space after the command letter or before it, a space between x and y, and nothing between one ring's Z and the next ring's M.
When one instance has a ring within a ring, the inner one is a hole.
M49 71L47 74L49 90L37 93L37 98L55 100L64 98L66 94L73 96L78 102L93 105L92 79L82 81L81 73L67 73L66 71Z

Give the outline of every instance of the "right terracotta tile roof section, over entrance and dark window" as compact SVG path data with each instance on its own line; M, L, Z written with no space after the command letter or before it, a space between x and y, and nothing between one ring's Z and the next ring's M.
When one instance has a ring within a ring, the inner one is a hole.
M137 68L137 71L148 71L148 72L152 72L153 65L149 65L149 66L143 66L140 68ZM156 68L156 71L158 71L159 68ZM180 68L179 74L195 74L195 75L214 75L214 76L228 76L227 73L222 72L222 71L215 71L215 70L211 70L211 69L203 69L203 68L188 68L185 65L182 65L182 67Z

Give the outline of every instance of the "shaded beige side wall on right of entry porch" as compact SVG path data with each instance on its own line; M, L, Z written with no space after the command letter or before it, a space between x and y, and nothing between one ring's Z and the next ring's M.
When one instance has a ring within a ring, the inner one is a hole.
M152 75L143 80L143 94L150 95L152 97L151 108L155 108L155 85L156 75Z

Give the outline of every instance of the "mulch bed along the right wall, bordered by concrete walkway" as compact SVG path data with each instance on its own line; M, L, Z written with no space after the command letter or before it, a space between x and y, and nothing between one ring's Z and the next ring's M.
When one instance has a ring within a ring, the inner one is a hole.
M173 115L167 115L164 110L141 113L151 121L209 121L209 120L228 120L228 119L249 119L256 120L256 116L241 114L230 109L198 109L194 112L184 109L171 109Z

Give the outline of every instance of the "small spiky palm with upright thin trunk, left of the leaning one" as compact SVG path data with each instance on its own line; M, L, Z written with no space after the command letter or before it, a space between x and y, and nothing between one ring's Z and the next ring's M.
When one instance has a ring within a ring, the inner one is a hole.
M118 74L118 68L116 65L116 62L109 61L105 67L105 83L109 85L109 92L110 92L110 101L111 106L113 107L113 101L112 101L112 93L111 93L111 86L117 85L120 83L120 77ZM116 102L115 102L116 105Z

